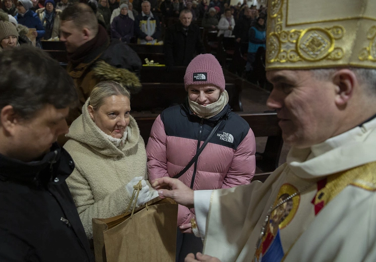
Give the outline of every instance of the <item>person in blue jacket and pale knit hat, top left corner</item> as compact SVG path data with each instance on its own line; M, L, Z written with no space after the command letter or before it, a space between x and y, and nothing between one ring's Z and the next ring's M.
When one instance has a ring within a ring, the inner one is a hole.
M16 17L18 23L28 28L36 29L36 32L33 32L36 36L36 46L41 48L40 38L44 36L45 30L38 15L30 10L33 7L33 3L30 0L18 0L16 7L18 10Z

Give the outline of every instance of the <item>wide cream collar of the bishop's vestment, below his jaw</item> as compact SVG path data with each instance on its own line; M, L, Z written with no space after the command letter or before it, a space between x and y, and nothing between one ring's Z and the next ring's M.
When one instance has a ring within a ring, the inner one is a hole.
M376 118L306 149L291 148L290 169L301 178L317 178L376 161Z

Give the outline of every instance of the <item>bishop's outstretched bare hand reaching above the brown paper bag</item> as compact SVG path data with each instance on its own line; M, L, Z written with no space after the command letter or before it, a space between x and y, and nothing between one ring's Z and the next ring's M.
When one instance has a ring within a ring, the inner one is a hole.
M194 191L176 178L161 177L152 184L161 199L171 198L187 208L194 207Z

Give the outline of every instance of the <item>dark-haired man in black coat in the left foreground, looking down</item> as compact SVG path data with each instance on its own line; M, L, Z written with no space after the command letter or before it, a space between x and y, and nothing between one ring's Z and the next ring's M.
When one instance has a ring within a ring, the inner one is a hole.
M71 77L28 45L0 53L0 261L94 261L56 142L77 102Z

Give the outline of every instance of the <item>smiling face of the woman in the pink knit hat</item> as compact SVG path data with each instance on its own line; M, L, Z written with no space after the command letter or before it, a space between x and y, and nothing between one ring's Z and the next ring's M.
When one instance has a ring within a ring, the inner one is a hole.
M188 97L200 105L207 106L217 102L221 90L213 85L192 85L188 87Z

